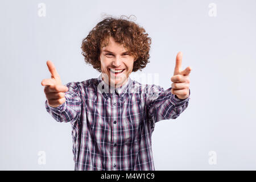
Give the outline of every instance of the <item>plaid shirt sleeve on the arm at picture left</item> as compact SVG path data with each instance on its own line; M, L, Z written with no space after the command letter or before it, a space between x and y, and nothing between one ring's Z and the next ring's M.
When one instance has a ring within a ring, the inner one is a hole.
M74 123L80 119L81 114L81 94L76 82L65 84L68 87L68 92L65 92L66 101L58 107L52 107L45 101L46 110L57 122Z

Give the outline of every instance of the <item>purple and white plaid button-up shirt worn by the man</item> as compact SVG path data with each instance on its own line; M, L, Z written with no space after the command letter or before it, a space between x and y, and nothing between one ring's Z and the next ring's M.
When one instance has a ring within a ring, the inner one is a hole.
M45 104L56 121L72 125L75 170L155 170L151 145L155 123L176 119L190 99L180 100L171 88L140 84L130 77L113 90L102 74L65 86L64 104L51 107L47 100Z

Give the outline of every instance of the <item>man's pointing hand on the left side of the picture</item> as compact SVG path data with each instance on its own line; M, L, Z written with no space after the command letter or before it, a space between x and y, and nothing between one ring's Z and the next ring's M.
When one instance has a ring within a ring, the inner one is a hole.
M46 64L51 73L51 78L42 80L41 85L44 86L48 105L57 107L66 101L65 92L68 92L68 87L61 84L60 76L54 64L51 61L47 61Z

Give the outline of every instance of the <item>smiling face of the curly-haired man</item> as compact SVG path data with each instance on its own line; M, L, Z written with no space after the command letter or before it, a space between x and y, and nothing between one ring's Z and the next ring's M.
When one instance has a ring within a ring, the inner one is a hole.
M109 44L102 47L100 61L102 78L115 88L125 84L133 71L134 57L112 37L109 38Z

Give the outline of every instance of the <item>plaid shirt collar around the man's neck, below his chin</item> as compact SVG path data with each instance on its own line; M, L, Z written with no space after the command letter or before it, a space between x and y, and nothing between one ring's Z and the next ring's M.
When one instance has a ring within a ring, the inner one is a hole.
M102 79L102 73L100 74L100 76L97 77L97 81L98 81L98 85L100 85L100 87L98 88L102 88L101 90L103 91L102 93L104 94L104 97L108 99L110 94L117 94L119 97L123 97L123 94L127 93L127 89L129 89L130 85L131 85L131 78L128 77L127 81L125 82L125 84L119 86L118 88L113 88L112 86L109 86L109 84L107 84L103 79ZM99 90L98 90L99 91Z

